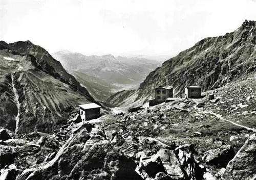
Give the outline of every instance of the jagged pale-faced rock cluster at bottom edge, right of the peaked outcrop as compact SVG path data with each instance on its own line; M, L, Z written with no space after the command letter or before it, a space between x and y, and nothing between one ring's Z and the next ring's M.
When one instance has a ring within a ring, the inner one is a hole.
M203 179L205 169L199 166L191 152L184 149L161 148L150 157L145 153L139 155L135 171L143 179Z

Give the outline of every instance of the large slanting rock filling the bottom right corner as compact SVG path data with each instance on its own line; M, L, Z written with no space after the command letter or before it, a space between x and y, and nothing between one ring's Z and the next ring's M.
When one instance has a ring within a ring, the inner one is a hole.
M222 176L228 180L256 179L256 136L251 135L237 155L228 163Z

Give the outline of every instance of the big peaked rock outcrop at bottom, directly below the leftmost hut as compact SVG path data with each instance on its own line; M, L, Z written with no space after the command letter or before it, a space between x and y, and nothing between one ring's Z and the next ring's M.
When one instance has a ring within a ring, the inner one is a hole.
M72 132L55 154L22 171L16 179L137 179L135 162L98 128L83 123Z

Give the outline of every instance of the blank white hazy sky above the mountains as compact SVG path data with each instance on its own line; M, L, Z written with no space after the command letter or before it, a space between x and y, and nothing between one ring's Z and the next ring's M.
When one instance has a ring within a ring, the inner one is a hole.
M256 20L253 0L0 0L0 40L50 53L173 56Z

